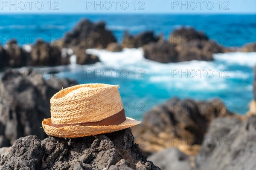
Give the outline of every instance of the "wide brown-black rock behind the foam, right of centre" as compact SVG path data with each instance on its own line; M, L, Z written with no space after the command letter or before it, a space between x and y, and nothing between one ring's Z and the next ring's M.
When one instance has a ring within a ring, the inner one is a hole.
M169 42L160 41L143 47L144 57L161 63L191 60L212 61L212 54L224 52L224 48L193 28L175 30Z

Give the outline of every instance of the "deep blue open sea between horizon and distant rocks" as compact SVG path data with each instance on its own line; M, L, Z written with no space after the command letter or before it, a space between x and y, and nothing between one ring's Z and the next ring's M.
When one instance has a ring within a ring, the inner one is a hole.
M180 26L193 26L204 31L224 46L242 46L256 41L256 15L253 14L1 14L0 43L14 37L20 44L34 43L38 39L55 43L81 18L105 21L119 41L126 30L131 34L152 30L167 39L170 32Z

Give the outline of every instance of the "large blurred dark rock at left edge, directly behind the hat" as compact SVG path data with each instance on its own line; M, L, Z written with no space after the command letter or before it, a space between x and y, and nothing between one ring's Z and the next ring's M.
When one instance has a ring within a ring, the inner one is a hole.
M63 87L77 84L67 79L44 80L41 71L40 74L36 72L9 69L0 80L0 135L9 141L8 145L26 135L44 139L46 134L41 122L50 117L50 98Z

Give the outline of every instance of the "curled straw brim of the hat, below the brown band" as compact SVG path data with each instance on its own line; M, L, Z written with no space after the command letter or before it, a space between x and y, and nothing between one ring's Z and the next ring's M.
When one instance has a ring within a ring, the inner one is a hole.
M59 138L79 138L90 135L99 135L102 133L111 133L118 130L123 130L128 127L133 127L140 124L133 118L126 117L126 120L116 126L64 126L53 127L51 118L44 119L42 122L44 131L47 135L56 136Z

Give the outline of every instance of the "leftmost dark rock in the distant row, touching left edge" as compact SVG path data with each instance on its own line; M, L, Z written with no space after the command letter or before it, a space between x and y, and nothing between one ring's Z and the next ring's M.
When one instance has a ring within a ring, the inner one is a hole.
M27 56L27 52L17 45L16 40L10 40L6 44L6 49L0 46L0 68L26 66Z

